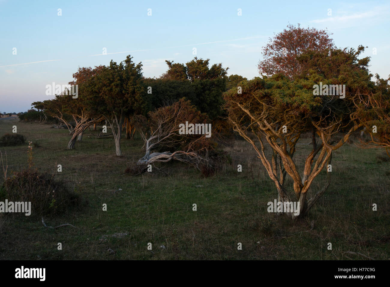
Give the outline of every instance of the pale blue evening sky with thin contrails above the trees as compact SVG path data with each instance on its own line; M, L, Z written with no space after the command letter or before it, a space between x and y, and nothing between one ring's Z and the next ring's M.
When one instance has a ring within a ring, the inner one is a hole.
M145 77L159 77L165 60L186 63L196 48L210 65L252 79L269 38L298 23L327 29L339 48L367 46L361 57L387 78L389 14L390 1L0 0L0 111L27 111L54 98L46 85L67 84L78 67L127 55Z

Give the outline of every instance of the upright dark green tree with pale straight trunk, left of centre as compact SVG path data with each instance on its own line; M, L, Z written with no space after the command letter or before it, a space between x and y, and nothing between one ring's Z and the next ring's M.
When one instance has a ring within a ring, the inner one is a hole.
M130 55L120 64L111 60L110 66L91 77L88 107L104 117L112 129L115 153L122 155L122 125L126 118L145 109L142 63L135 64Z

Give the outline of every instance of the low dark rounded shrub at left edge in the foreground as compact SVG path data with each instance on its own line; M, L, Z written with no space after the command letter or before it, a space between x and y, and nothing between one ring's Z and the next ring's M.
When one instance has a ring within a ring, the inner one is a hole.
M31 215L61 214L69 206L79 206L79 196L54 175L36 169L13 172L0 187L0 201L30 201Z

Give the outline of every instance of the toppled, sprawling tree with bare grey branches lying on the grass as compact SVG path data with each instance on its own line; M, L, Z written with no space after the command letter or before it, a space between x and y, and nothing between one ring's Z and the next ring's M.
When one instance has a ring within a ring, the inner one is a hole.
M133 119L145 142L145 155L137 162L138 170L144 171L148 164L156 161L167 162L172 159L193 164L197 168L207 162L201 155L206 154L214 145L207 134L201 134L199 128L197 134L180 133L186 122L199 124L197 127L203 128L204 132L209 127L207 115L197 111L190 101L182 98L172 105L149 112L148 116L149 120L142 115ZM208 131L211 135L211 130ZM167 149L173 152L159 152Z

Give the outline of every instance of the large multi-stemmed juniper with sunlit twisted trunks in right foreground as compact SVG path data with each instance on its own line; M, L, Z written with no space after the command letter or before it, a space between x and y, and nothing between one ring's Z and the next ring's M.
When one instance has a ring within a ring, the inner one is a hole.
M308 52L298 57L300 64L305 62L306 70L294 81L277 74L243 82L242 94L237 94L234 88L225 93L226 109L234 130L252 144L275 183L278 201L300 203L299 216L307 214L330 185L332 152L363 126L353 112L359 90L372 88L367 68L369 59L357 58L363 50L360 46L357 51ZM345 84L345 98L333 93L316 95L314 85L319 82ZM293 156L298 140L305 133L310 134L312 150L305 159L302 173ZM266 145L271 153L266 152ZM310 185L324 167L326 183L308 199ZM287 175L293 182L293 195L285 187ZM288 215L298 217L292 212Z

